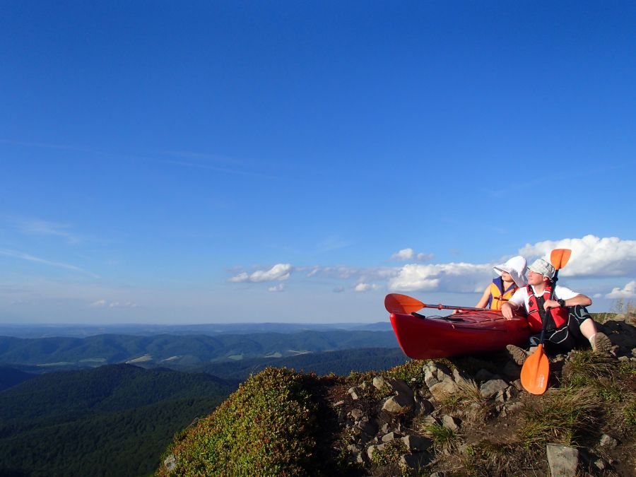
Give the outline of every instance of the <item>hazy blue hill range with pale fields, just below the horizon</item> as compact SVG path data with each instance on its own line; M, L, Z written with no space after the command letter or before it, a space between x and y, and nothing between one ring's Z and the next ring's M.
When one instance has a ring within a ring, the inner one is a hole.
M114 363L145 367L192 367L203 363L397 346L392 331L332 330L216 336L103 334L86 338L0 336L0 363L35 365L40 370L97 367Z

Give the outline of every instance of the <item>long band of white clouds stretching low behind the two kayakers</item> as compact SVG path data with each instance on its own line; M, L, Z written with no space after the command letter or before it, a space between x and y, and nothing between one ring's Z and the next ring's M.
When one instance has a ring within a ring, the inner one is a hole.
M561 272L570 278L632 278L636 276L636 240L621 240L618 237L596 237L545 240L536 244L526 244L518 254L526 258L528 264L534 259L550 259L553 249L572 249L572 257ZM288 281L294 273L304 273L305 278L322 277L349 281L346 286L334 288L334 292L344 290L366 292L387 290L390 292L447 292L479 293L493 276L493 266L512 257L504 256L488 264L450 262L446 264L408 263L402 266L378 267L376 269L356 269L353 267L293 266L276 264L270 269L252 273L242 272L228 279L230 282ZM416 253L411 248L401 249L391 255L391 260L420 261L431 259L432 254ZM307 272L307 269L310 271ZM270 291L283 291L281 286ZM604 298L636 297L636 281L614 287L602 294Z

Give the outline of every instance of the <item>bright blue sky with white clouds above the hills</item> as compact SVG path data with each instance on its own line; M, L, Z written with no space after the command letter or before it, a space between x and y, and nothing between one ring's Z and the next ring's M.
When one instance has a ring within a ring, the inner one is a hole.
M0 322L636 298L628 1L4 1Z

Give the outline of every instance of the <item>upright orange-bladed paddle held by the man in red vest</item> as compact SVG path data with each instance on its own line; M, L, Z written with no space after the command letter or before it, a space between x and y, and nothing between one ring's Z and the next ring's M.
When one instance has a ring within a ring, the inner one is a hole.
M567 261L570 260L572 250L570 249L554 249L550 254L550 262L555 269L554 278L552 280L552 292L550 300L554 298L554 290L558 280L559 269L563 269ZM546 311L549 313L550 309ZM529 355L522 367L521 381L522 386L531 394L543 394L548 389L548 374L550 372L550 361L548 356L543 352L543 335L546 334L546 324L548 319L543 319L543 329L541 330L541 338L536 347L536 351Z

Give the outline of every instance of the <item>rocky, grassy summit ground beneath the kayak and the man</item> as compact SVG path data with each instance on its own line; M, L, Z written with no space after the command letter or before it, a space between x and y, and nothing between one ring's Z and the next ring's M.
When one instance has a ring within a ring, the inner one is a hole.
M505 353L350 378L324 391L331 449L351 475L634 476L634 324L600 326L611 355L552 358L541 396Z

